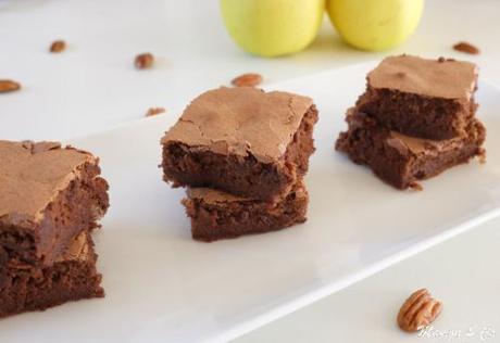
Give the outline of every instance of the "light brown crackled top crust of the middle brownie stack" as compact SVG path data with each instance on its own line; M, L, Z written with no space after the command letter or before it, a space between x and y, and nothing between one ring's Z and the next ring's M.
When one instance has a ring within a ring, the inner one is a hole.
M252 155L271 163L284 156L312 100L287 92L226 88L196 98L163 137L216 154Z

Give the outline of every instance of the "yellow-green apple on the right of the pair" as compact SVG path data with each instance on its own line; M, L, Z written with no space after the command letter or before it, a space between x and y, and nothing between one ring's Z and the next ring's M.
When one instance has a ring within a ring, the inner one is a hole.
M418 26L424 0L327 0L326 10L339 35L362 50L388 50Z

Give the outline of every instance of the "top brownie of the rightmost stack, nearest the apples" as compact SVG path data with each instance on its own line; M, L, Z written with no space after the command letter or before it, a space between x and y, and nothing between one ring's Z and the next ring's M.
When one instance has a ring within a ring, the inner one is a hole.
M403 135L434 140L463 136L477 107L477 74L470 62L387 58L368 74L357 106Z

